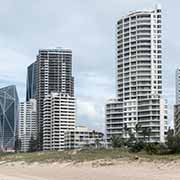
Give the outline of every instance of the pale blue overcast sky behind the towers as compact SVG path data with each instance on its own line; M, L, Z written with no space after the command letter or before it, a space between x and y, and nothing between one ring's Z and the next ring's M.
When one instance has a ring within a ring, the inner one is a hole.
M26 68L41 48L73 51L77 124L104 130L115 97L116 22L132 10L163 10L163 95L172 125L175 69L180 66L179 0L0 0L0 87L17 85L25 100Z

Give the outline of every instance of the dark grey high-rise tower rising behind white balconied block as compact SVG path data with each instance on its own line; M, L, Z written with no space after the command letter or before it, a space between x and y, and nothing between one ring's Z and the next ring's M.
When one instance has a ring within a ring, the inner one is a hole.
M43 145L43 101L51 92L74 96L72 51L69 49L41 49L37 60L28 68L27 100L37 100L37 120L40 149Z

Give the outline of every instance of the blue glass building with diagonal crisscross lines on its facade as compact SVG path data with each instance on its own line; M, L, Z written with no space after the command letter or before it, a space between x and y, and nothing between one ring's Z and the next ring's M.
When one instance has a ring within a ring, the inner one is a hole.
M18 126L18 95L16 86L0 89L0 150L14 150Z

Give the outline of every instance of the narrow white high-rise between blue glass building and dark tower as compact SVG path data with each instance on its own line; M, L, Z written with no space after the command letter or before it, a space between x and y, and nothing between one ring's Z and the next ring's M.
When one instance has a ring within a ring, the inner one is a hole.
M19 138L21 140L21 151L29 150L31 138L37 138L37 110L36 100L21 102L19 107Z

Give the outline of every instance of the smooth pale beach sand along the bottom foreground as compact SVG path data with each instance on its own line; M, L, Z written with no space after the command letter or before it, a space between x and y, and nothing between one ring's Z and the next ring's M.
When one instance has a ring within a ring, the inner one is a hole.
M180 180L180 162L1 164L0 180Z

